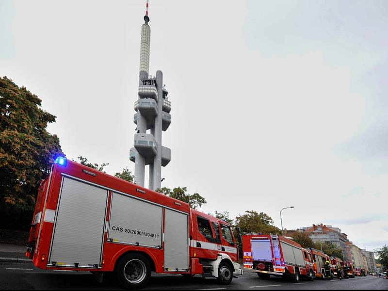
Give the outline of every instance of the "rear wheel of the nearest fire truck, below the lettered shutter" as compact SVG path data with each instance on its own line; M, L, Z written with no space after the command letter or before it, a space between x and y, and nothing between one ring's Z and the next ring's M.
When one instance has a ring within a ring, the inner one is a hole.
M144 255L129 253L117 261L114 273L124 288L140 289L148 284L151 264Z

